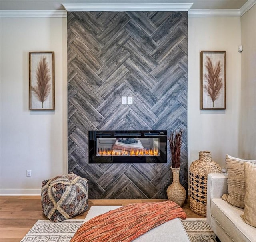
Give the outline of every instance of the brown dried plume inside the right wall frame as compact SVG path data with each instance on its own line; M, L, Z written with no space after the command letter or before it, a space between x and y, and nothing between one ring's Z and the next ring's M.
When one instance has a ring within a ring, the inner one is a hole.
M206 89L208 96L212 99L212 106L214 107L214 102L217 100L223 87L222 78L220 77L220 61L214 67L209 56L206 56L206 70L208 73L204 74L204 77L207 84L204 85L204 89Z

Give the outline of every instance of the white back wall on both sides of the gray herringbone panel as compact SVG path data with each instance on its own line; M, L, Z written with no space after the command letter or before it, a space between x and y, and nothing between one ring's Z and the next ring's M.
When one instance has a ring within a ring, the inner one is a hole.
M0 24L1 194L40 194L42 180L67 172L66 18L1 18ZM226 154L238 156L240 30L240 17L189 17L188 168L200 150L211 151L222 167ZM29 111L28 52L47 50L55 52L56 111ZM201 50L227 51L226 110L200 110Z

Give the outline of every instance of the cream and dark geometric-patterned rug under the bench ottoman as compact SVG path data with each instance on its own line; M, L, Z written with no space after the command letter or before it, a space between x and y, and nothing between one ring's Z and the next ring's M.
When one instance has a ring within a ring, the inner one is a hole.
M68 219L54 223L50 220L38 220L21 242L69 242L83 219ZM190 218L181 220L191 242L215 242L214 232L206 219Z

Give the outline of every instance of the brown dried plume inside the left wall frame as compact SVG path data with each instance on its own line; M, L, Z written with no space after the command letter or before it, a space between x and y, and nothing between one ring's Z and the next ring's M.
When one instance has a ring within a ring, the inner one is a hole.
M44 101L50 94L50 69L44 57L38 64L36 71L36 86L32 87L32 91L36 94L38 100L42 102L42 108L44 107Z

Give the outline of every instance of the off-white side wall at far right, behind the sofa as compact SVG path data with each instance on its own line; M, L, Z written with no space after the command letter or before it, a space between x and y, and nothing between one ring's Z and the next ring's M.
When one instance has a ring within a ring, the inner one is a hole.
M256 160L256 5L241 17L241 25L244 50L239 154Z

